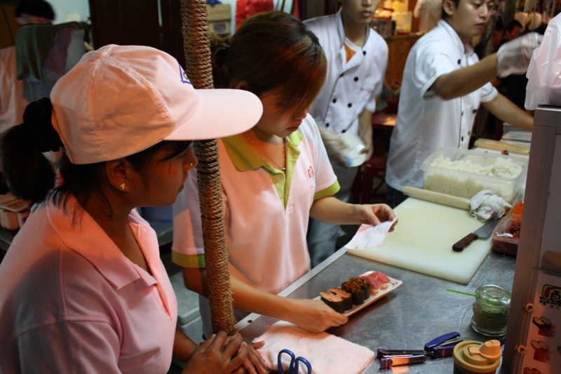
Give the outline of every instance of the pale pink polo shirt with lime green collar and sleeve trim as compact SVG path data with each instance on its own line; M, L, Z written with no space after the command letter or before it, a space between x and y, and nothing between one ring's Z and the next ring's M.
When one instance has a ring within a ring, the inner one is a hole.
M339 189L317 125L308 115L288 138L286 174L266 163L243 135L218 145L230 274L259 290L279 293L310 269L306 228L311 204ZM201 268L201 213L193 174L189 172L173 206L172 260ZM208 334L210 315L204 310L201 305ZM243 315L236 312L238 318Z

